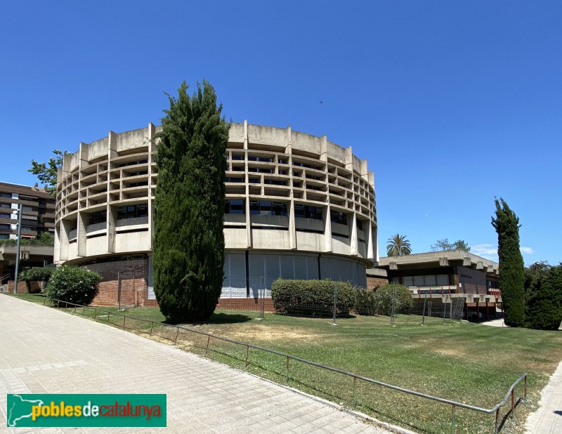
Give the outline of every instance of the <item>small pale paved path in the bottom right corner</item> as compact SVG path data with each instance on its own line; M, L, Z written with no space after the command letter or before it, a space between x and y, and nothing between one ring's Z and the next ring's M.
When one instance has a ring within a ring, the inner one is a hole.
M529 415L525 428L529 434L562 433L562 362L542 390L539 409Z

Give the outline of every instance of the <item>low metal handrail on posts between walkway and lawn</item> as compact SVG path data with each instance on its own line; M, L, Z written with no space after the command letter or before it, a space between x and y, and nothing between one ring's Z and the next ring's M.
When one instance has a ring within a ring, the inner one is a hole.
M366 381L367 383L373 383L373 384L377 384L377 386L382 386L385 388L389 388L392 390L398 390L399 392L403 392L403 393L408 393L410 395L415 395L418 397L423 397L429 400L433 400L433 401L437 401L437 402L442 402L443 404L447 404L447 405L452 405L452 416L451 416L451 433L455 434L455 407L462 407L465 409L469 409L469 410L473 410L476 412L483 412L486 414L492 414L495 413L495 430L494 433L497 434L498 433L498 421L499 421L499 409L501 407L503 407L504 405L506 405L507 400L509 400L509 397L511 397L511 419L514 419L514 410L515 410L515 387L518 385L518 383L520 383L522 380L524 380L524 395L523 395L523 400L527 399L527 376L528 374L523 374L522 376L520 376L509 388L509 390L507 391L504 399L502 401L500 401L497 405L495 405L494 407L492 407L491 409L485 409L483 407L477 407L474 405L469 405L469 404L464 404L463 402L457 402L457 401L453 401L453 400L447 400L445 398L442 397L437 397L437 396L433 396L433 395L427 395L426 393L421 393L421 392L417 392L415 390L410 390L410 389L406 389L406 388L401 388L399 386L393 386L392 384L388 384L388 383L383 383L382 381L377 381L374 379L370 379L369 377L366 376L362 376L359 374L354 374L353 372L348 372L348 371L344 371L343 369L338 369L338 368L334 368L334 367L329 367L325 364L321 364L318 362L312 362L311 360L306 360L303 359L301 357L297 357L295 355L290 355L287 353L282 353L280 351L277 350L272 350L270 348L264 348L261 346L257 346L254 345L253 343L247 343L247 342L240 342L240 341L234 341L233 339L229 339L229 338L225 338L223 336L216 336L214 334L210 334L207 333L205 331L200 331L200 330L195 330L195 329L190 329L189 327L183 327L183 326L178 326L178 325L170 325L170 324L164 324L163 322L157 322L157 321L153 321L153 320L145 320L143 318L136 318L136 317L131 317L130 315L124 315L123 313L113 313L110 312L110 310L102 310L102 309L98 309L98 308L91 308L89 306L85 306L85 305L79 305L76 303L71 303L70 301L62 301L62 300L58 300L56 298L51 298L51 305L50 307L52 307L52 303L53 301L59 303L59 305L61 303L65 303L66 307L68 307L68 305L73 305L74 306L74 312L76 312L76 308L84 308L83 312L82 312L82 317L84 317L84 312L86 310L86 308L88 309L94 309L96 311L99 310L100 312L104 312L107 313L107 324L109 324L110 321L110 315L118 315L118 316L122 316L124 317L123 320L123 329L125 329L125 319L126 318L131 318L132 320L137 320L137 321L143 321L143 322L151 322L151 327L150 327L150 336L152 336L152 329L154 327L155 324L164 326L164 327L176 327L176 329L178 329L178 331L176 332L176 338L175 339L170 339L170 338L166 338L164 336L164 338L169 339L169 341L173 341L174 344L177 342L178 339L178 333L179 330L185 330L185 331L190 331L191 333L195 333L195 334L200 334L202 336L207 336L207 346L205 348L205 355L207 355L207 350L209 349L209 342L211 340L211 338L215 338L218 339L219 341L225 341L228 343L233 343L235 345L240 345L240 346L245 346L247 348L246 350L246 359L245 359L245 363L246 365L247 363L247 357L248 357L248 350L249 348L254 348L256 350L261 350L264 351L266 353L271 353L271 354L275 354L275 355L280 355L281 357L285 357L287 360L287 370L286 370L286 379L288 381L289 379L289 360L295 360L298 362L302 362L305 364L310 364L311 366L315 366L315 367L320 367L322 369L327 369L328 371L333 371L333 372L337 372L339 374L342 375L346 375L346 376L350 376L351 378L353 378L353 405L354 407L357 405L357 388L356 388L356 381L357 380L362 380L362 381ZM44 301L44 305L46 304L46 300Z

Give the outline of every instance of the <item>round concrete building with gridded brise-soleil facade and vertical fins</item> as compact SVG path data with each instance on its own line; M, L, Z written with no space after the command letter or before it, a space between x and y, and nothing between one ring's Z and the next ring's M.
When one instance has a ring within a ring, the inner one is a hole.
M55 263L136 272L147 299L158 131L149 124L81 143L58 172ZM245 121L231 125L226 159L223 297L256 296L277 277L365 287L378 256L367 160L326 136Z

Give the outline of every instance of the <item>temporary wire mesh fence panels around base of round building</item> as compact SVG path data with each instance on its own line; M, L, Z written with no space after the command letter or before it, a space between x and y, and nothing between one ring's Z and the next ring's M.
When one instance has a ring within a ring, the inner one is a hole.
M157 305L151 276L130 270L107 271L102 274L98 306L116 306L119 310ZM405 325L436 324L463 318L465 296L444 291L425 294L403 294L400 291L379 292L342 282L332 282L329 291L296 291L289 297L272 297L273 279L246 277L228 279L218 299L218 312L238 313L266 319L268 315L326 318L336 323L340 318L372 317L373 324Z

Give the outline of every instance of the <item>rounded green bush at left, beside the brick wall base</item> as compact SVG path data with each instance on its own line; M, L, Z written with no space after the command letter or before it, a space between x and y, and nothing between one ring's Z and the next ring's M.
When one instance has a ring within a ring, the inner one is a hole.
M98 295L101 276L97 272L79 267L55 268L45 294L49 298L89 305Z

